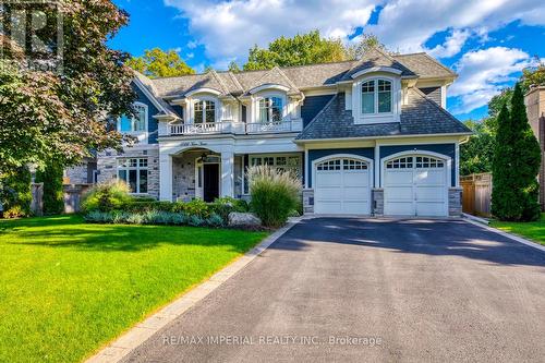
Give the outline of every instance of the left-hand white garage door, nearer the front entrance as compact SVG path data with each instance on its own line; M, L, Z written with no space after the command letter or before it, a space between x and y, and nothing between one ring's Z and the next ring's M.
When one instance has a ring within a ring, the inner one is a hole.
M371 214L370 166L350 158L316 164L314 213Z

